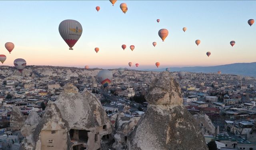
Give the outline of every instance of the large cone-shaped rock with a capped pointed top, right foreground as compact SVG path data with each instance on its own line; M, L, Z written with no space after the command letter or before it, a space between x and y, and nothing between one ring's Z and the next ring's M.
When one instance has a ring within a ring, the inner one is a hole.
M169 72L152 81L145 98L148 111L127 138L129 150L208 150Z

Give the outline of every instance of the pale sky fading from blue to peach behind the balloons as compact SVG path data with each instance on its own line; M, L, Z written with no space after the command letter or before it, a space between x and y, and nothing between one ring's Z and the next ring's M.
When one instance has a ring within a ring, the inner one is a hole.
M120 9L123 2L126 14ZM156 68L156 62L159 68L256 62L256 23L247 23L256 20L255 8L256 1L118 0L114 6L109 0L0 1L0 54L7 56L2 65L14 66L16 58L24 58L27 65L82 68L130 68L132 62L131 68L138 70ZM68 50L58 31L66 19L82 24L74 50ZM162 28L169 31L165 42L158 36ZM4 47L6 42L15 44L12 54ZM133 51L130 45L135 46ZM100 48L98 53L95 47Z

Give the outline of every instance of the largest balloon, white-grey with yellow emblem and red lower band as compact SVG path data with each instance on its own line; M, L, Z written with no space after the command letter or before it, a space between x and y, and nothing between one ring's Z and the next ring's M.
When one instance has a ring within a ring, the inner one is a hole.
M82 31L82 25L76 20L63 20L60 22L60 36L68 44L70 50L73 50L72 47L82 35Z

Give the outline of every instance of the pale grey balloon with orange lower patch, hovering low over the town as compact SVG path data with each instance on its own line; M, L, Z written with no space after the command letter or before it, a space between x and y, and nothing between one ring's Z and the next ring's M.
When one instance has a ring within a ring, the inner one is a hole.
M100 70L97 76L104 88L112 82L113 74L110 70Z

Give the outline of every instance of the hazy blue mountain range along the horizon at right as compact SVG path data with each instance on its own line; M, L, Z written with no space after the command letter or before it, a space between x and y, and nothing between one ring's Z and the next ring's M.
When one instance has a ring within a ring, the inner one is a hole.
M151 69L145 71L164 71L166 68ZM187 72L203 72L210 73L221 71L222 74L236 74L244 76L256 77L256 62L251 63L235 63L225 64L220 66L209 66L209 67L170 67L170 71L187 71Z

